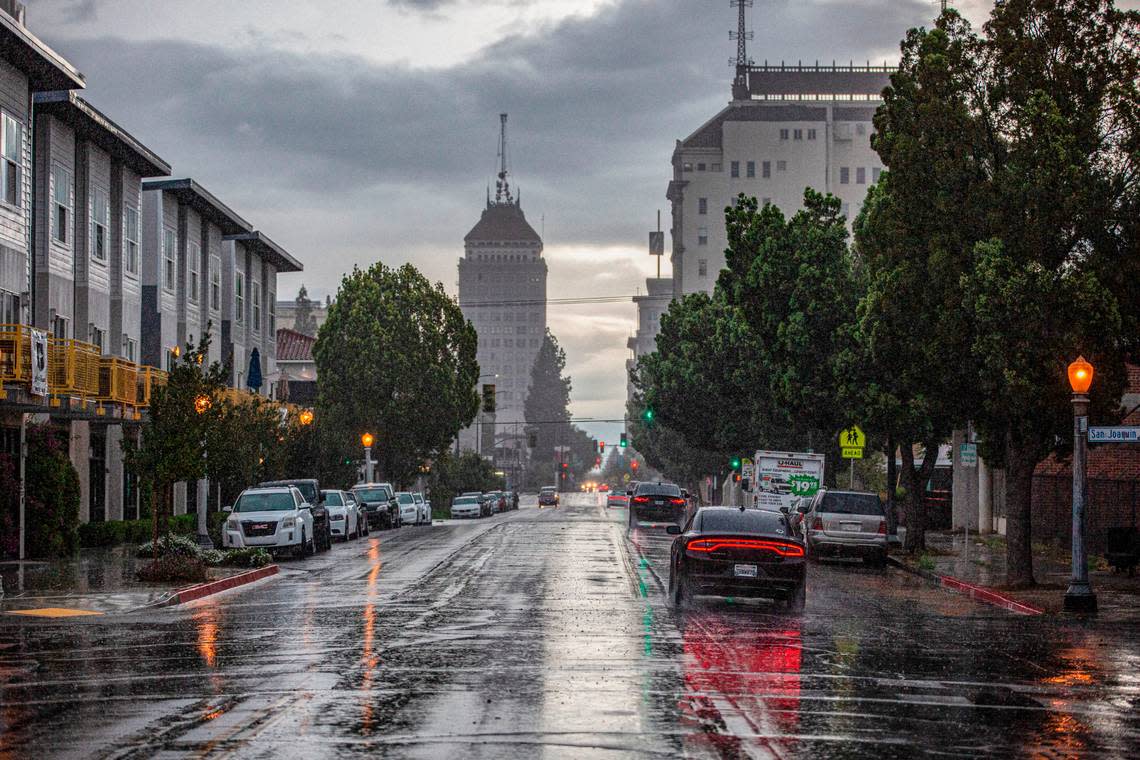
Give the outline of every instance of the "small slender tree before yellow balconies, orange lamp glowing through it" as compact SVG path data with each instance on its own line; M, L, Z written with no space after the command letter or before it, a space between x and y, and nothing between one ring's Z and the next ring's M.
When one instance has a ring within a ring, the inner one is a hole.
M206 474L205 442L218 424L228 371L210 356L210 330L198 344L187 344L165 385L155 387L139 440L123 441L127 467L150 492L152 538L157 544L160 522L171 507L171 490L180 481ZM157 548L155 549L157 559Z

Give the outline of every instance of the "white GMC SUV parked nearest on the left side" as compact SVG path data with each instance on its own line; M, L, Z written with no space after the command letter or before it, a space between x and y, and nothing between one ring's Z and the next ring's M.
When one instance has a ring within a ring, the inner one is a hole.
M229 513L222 528L226 548L290 550L298 557L316 550L312 505L293 487L247 488L223 512Z

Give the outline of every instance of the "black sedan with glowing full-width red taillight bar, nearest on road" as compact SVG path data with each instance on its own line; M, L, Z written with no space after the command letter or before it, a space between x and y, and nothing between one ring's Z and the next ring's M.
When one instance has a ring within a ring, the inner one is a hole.
M766 509L703 507L676 534L669 557L669 598L768 598L801 612L807 572L804 545L788 517Z

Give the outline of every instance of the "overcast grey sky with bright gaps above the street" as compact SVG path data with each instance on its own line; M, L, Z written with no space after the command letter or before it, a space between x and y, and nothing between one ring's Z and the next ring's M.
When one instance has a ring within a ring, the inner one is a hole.
M727 0L26 0L84 97L300 259L335 293L410 261L456 291L463 236L510 113L514 187L552 297L653 273L674 141L728 100ZM933 0L756 0L757 60L897 59ZM956 3L975 19L987 3ZM663 273L669 273L668 260ZM552 307L573 412L620 417L632 304ZM620 426L586 425L614 440Z

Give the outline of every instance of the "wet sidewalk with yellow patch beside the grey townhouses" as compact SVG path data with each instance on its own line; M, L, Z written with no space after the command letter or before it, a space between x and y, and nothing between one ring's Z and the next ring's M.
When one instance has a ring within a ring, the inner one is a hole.
M135 556L136 548L124 545L80 549L75 558L51 562L0 562L3 583L0 614L35 608L60 608L71 611L66 613L70 615L123 613L161 602L178 588L190 586L136 580L135 572L148 562ZM211 567L210 580L246 571Z

